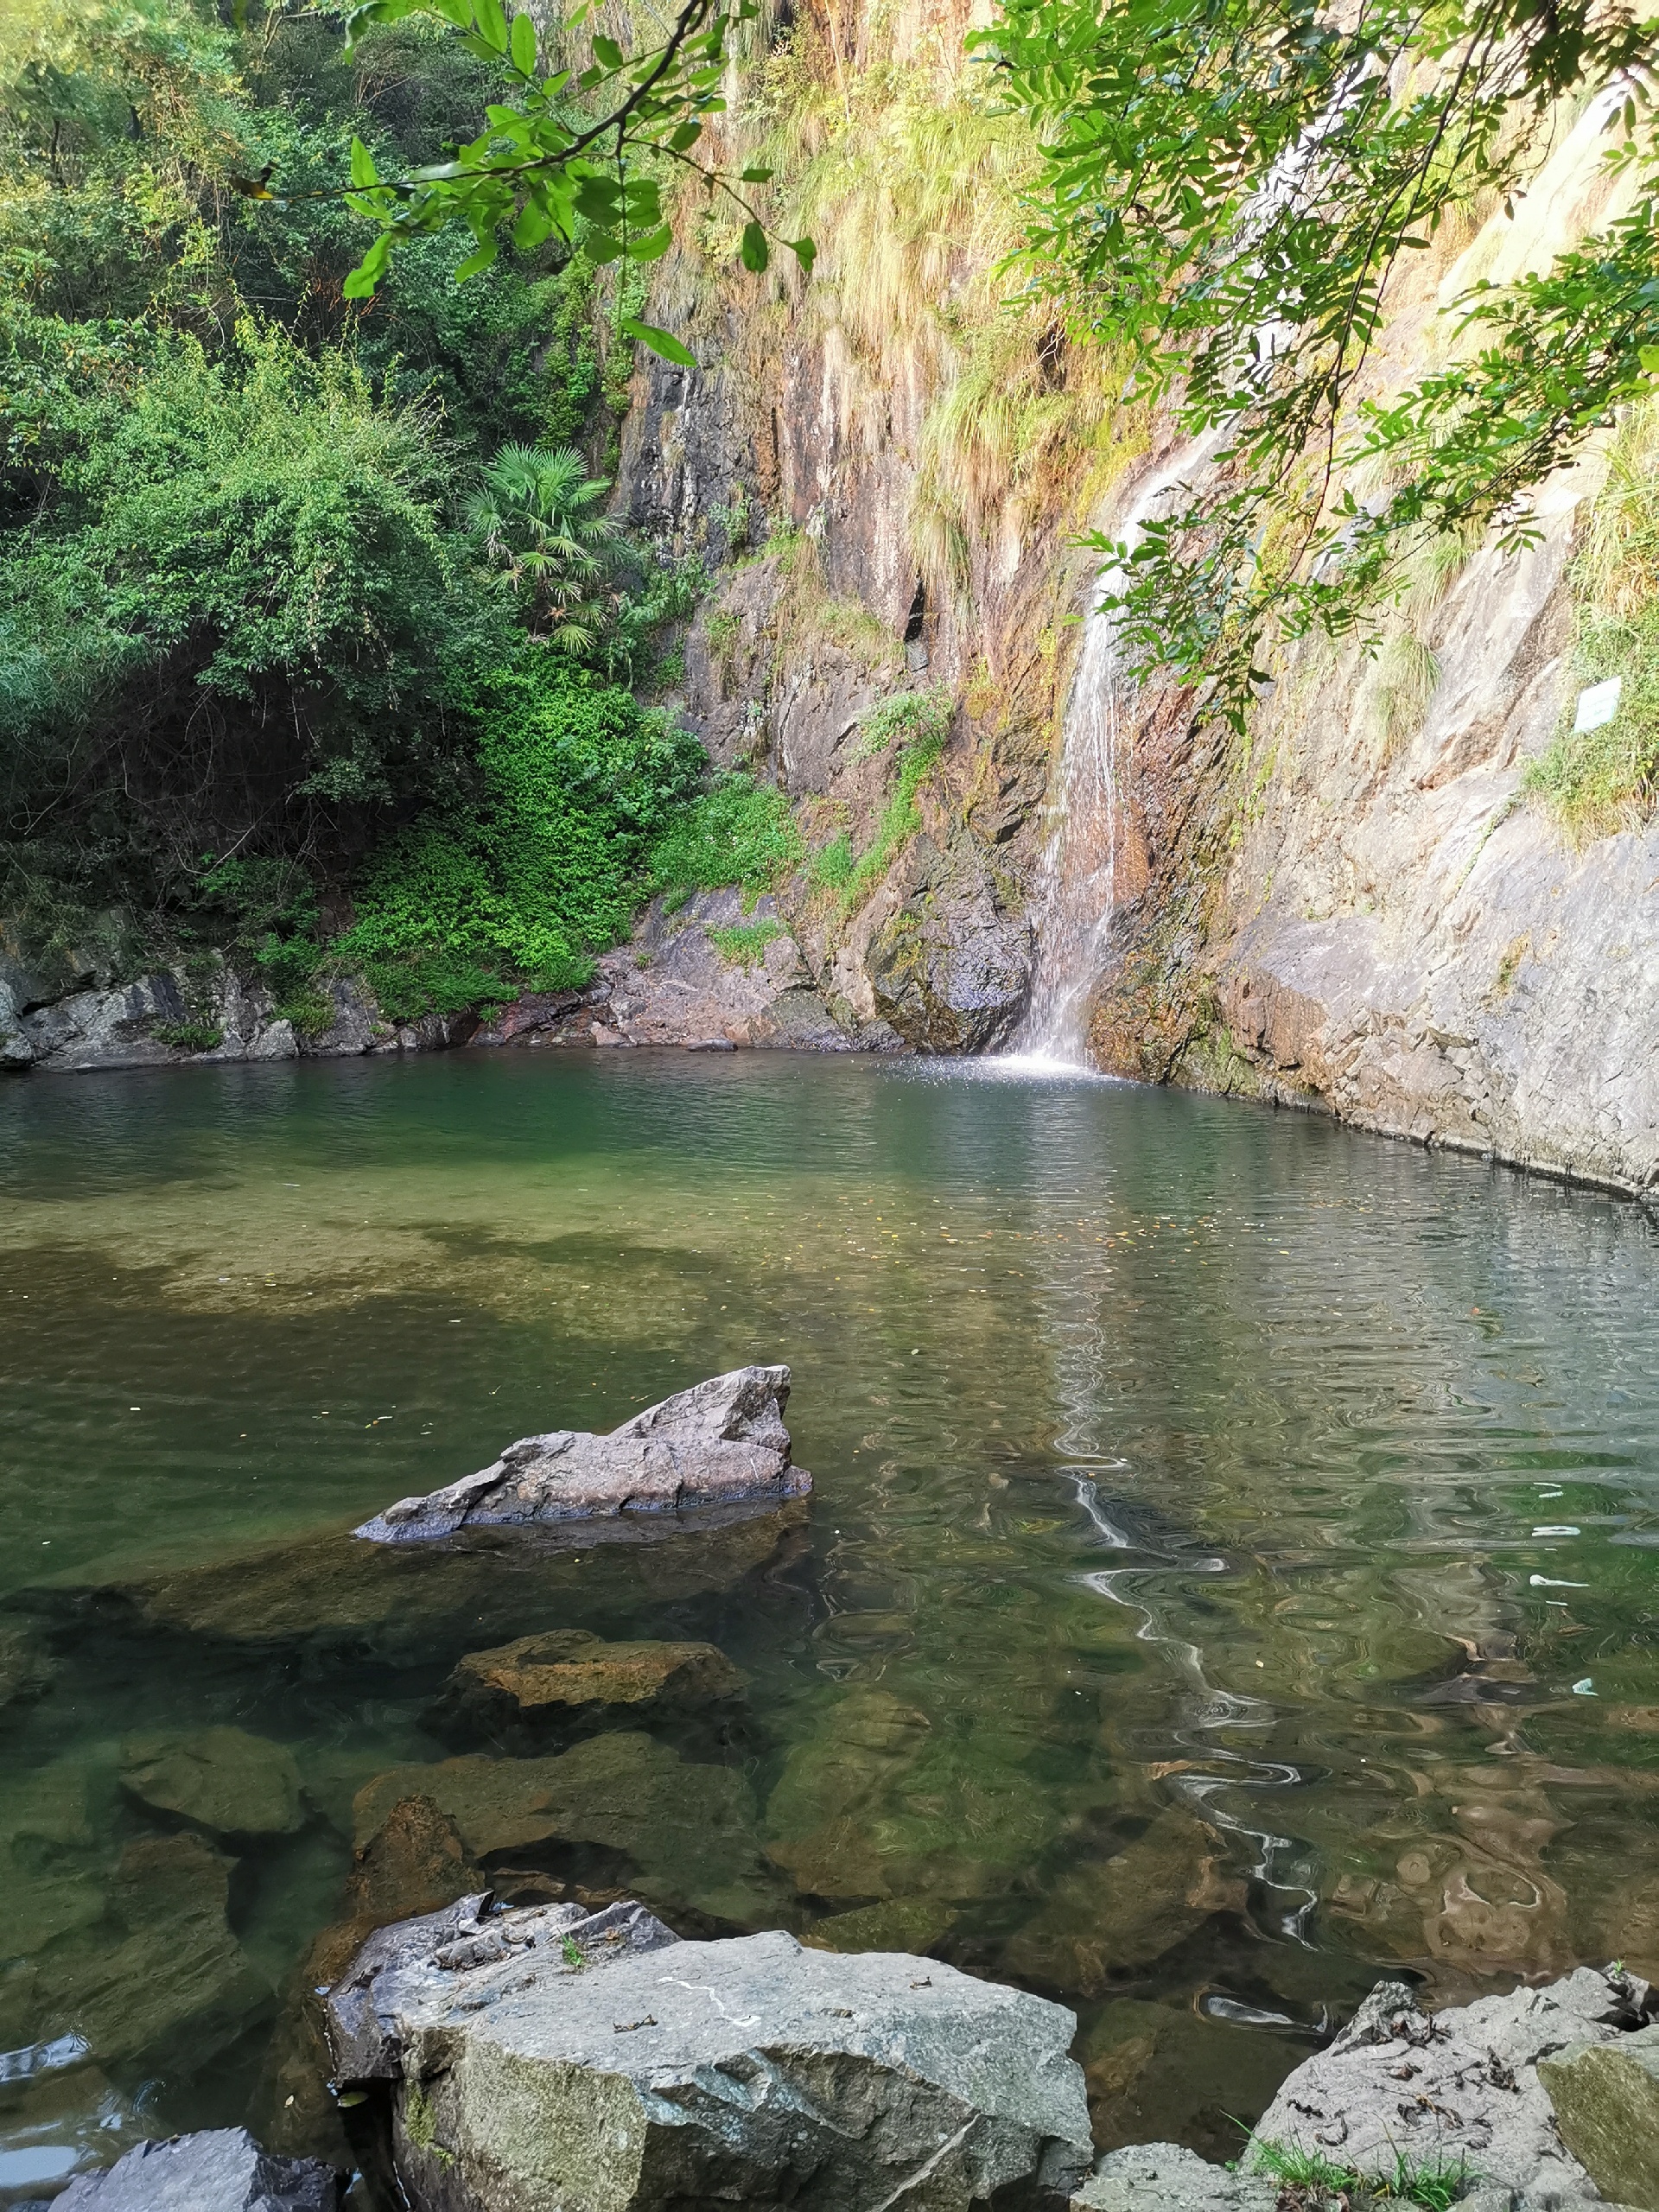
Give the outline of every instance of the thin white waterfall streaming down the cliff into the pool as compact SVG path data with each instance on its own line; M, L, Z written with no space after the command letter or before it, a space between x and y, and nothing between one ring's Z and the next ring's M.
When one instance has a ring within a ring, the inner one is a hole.
M1130 549L1157 504L1219 445L1219 431L1192 438L1135 495L1121 524ZM1048 810L1048 841L1037 872L1037 971L1011 1060L1031 1073L1093 1073L1088 998L1106 964L1117 907L1119 774L1135 734L1135 684L1117 646L1117 617L1102 599L1124 586L1113 562L1095 584L1084 617L1066 728L1060 792Z

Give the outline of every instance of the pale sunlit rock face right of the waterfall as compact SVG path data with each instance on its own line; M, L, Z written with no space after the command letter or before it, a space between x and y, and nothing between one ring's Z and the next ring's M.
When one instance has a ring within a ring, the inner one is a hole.
M1511 219L1402 303L1551 254L1606 212L1593 108ZM1659 1188L1659 827L1568 838L1524 790L1571 717L1568 566L1604 456L1544 487L1542 542L1455 549L1383 648L1303 650L1250 754L1150 699L1126 774L1102 1064L1617 1190Z

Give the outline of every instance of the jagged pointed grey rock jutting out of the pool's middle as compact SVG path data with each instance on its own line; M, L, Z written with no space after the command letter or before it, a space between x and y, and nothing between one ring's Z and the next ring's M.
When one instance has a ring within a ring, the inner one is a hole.
M737 1367L646 1407L608 1436L522 1436L476 1475L400 1498L356 1533L416 1544L502 1522L783 1504L812 1489L812 1475L790 1464L787 1398L787 1367Z

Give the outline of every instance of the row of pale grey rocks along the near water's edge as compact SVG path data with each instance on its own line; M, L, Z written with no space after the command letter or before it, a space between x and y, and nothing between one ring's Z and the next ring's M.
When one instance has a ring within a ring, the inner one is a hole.
M354 2174L219 2130L137 2146L60 2212L336 2212L347 2181L374 2212L1652 2212L1657 2015L1619 1969L1438 2015L1383 1982L1234 2166L1097 2157L1060 2004L482 1891L376 1931L323 1993Z

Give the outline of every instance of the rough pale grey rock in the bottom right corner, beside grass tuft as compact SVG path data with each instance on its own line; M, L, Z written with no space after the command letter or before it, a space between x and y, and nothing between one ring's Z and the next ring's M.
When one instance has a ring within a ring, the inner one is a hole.
M1548 1989L1433 2015L1405 1982L1380 1982L1329 2051L1285 2079L1256 2139L1316 2150L1363 2174L1391 2174L1407 2152L1540 2199L1595 2197L1562 2143L1540 2062L1630 2042L1648 2002L1646 1982L1590 1966Z

